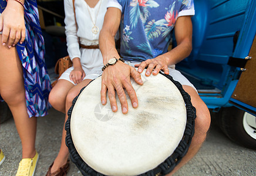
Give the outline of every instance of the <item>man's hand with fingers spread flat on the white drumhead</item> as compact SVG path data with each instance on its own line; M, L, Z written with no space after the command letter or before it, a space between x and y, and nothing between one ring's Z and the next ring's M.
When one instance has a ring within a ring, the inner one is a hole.
M128 104L124 93L125 88L132 101L132 106L134 108L138 106L138 99L130 81L130 76L133 77L137 84L143 84L140 74L132 66L119 61L113 66L106 67L102 73L102 90L100 92L103 105L107 102L106 92L108 91L112 111L117 111L116 93L114 92L116 90L122 106L122 113L126 114L128 112Z

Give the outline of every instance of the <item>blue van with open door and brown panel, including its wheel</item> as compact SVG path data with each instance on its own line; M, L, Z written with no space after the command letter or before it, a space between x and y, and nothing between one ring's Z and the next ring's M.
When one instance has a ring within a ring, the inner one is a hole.
M176 65L233 141L256 149L256 1L194 0L193 51Z

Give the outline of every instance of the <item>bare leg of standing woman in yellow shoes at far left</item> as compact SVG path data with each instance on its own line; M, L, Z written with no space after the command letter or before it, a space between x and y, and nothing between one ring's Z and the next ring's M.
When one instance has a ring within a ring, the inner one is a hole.
M0 93L14 116L22 143L22 158L33 158L36 153L36 117L28 116L21 60L16 48L0 45L0 53Z

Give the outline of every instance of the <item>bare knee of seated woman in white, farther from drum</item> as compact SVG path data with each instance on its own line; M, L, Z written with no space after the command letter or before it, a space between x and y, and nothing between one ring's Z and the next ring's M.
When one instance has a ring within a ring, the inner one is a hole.
M49 102L54 109L66 113L65 102L66 96L72 87L75 85L65 79L60 79L56 85L52 88L49 94Z

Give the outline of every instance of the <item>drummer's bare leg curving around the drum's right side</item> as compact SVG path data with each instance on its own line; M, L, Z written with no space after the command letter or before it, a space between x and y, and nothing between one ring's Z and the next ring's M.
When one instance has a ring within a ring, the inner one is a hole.
M183 86L183 89L188 94L190 94L191 103L193 104L194 107L196 107L197 117L195 120L195 133L194 137L192 138L190 148L188 149L187 154L183 157L181 162L174 168L174 170L168 175L174 174L174 172L176 172L179 168L181 168L184 164L191 160L191 158L193 158L194 155L196 155L197 151L200 149L201 145L206 139L206 133L211 123L210 112L206 104L204 104L203 100L201 100L201 98L198 96L196 90L194 90L190 86Z

